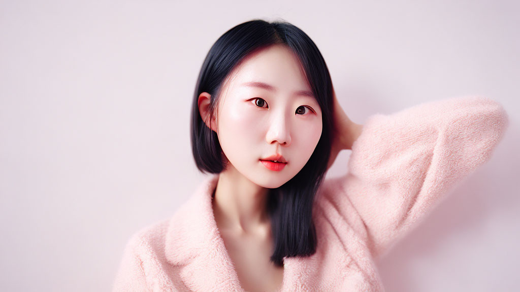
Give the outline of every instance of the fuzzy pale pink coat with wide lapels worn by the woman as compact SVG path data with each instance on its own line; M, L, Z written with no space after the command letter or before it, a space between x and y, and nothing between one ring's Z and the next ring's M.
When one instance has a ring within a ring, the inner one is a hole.
M489 160L508 121L500 103L467 96L369 116L347 173L316 194L316 254L284 258L280 291L384 291L374 259ZM213 216L217 179L129 239L114 292L244 291Z

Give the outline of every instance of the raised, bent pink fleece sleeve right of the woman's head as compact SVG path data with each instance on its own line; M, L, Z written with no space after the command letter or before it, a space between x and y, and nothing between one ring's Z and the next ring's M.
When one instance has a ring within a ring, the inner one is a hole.
M508 123L500 103L474 96L369 116L352 145L347 174L329 195L353 207L340 212L357 213L361 237L378 257L489 160Z

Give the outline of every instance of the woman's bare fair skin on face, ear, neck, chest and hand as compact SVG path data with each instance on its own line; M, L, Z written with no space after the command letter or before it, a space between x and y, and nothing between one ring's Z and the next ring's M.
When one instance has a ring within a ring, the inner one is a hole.
M321 109L311 95L297 57L275 45L255 52L231 72L213 119L211 95L199 96L201 116L217 133L229 162L215 189L215 221L240 283L250 292L275 291L282 284L283 267L269 261L274 245L266 198L268 189L294 177L316 148ZM333 115L329 167L341 150L352 147L362 129L349 120L335 94ZM287 161L281 171L261 163L272 154L282 154Z

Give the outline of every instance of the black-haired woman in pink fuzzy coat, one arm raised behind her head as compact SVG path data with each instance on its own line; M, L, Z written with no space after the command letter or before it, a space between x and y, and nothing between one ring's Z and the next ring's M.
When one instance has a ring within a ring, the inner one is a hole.
M484 164L508 125L459 97L349 120L313 41L253 20L212 46L191 142L209 176L129 240L114 291L382 291L380 257ZM338 152L346 175L324 180Z

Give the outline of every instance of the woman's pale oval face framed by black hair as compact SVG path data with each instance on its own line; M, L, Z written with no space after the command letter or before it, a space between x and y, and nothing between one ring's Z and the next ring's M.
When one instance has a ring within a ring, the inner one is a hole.
M298 64L288 47L270 46L230 74L220 97L217 135L230 167L265 188L294 177L321 136L321 109ZM278 171L262 162L276 154L287 161Z

